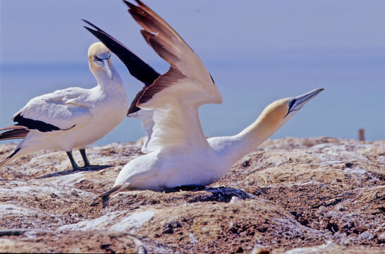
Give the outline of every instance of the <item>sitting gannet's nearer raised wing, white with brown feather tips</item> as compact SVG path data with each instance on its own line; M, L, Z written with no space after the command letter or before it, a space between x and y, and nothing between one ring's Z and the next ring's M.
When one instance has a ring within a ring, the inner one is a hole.
M138 0L138 6L125 3L142 26L147 43L171 65L137 102L138 107L153 111L154 126L147 150L168 145L208 145L198 107L222 102L214 80L193 49L154 11Z

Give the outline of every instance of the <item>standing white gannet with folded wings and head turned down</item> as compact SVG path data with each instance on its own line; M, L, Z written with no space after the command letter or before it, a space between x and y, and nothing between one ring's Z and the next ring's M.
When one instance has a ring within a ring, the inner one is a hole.
M24 138L0 167L37 150L66 151L74 170L102 169L91 165L85 147L104 137L126 117L128 97L121 76L111 63L111 51L96 42L88 49L91 89L70 87L31 99L13 116L13 126L0 129L0 140ZM84 167L73 159L79 149Z

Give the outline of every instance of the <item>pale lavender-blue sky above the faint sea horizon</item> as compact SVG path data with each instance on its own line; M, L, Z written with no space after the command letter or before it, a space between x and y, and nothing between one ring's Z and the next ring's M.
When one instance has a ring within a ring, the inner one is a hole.
M1 63L84 61L90 20L147 57L120 0L1 0ZM145 1L202 58L269 50L384 49L385 1Z

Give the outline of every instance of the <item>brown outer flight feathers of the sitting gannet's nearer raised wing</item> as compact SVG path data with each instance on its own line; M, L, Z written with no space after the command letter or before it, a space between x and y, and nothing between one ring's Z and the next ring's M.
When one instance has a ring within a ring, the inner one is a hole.
M178 83L178 80L186 78L186 75L188 78L203 83L203 87L208 83L207 89L204 88L204 90L207 90L209 97L211 97L209 102L220 103L221 96L219 95L212 78L210 78L207 69L204 67L199 57L193 52L193 49L191 49L178 33L173 30L166 21L159 17L157 13L154 13L154 11L143 4L142 1L135 1L138 3L138 6L125 1L129 8L128 12L144 29L140 32L142 32L146 42L159 56L161 56L162 59L166 60L171 65L171 68L167 73L157 78L157 80L155 80L152 85L149 85L145 91L141 91L142 95L136 103L136 106L140 107L140 104L148 102L154 95L161 92L166 87L175 85ZM200 74L191 73L190 66L192 70L195 70ZM208 80L211 80L212 84L210 84ZM212 87L208 87L209 85L212 85Z

